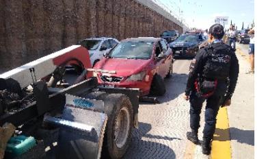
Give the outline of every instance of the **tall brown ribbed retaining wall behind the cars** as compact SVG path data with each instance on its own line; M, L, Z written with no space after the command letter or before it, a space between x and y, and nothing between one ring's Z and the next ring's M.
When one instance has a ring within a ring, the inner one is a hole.
M0 71L83 38L159 36L182 24L147 0L1 0Z

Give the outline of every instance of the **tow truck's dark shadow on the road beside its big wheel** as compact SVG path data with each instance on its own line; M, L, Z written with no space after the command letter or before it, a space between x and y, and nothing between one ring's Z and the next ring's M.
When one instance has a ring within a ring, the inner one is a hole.
M148 134L151 129L150 124L139 122L139 129L133 131L131 145L124 158L176 158L174 151L164 145L166 142L163 140L181 139Z

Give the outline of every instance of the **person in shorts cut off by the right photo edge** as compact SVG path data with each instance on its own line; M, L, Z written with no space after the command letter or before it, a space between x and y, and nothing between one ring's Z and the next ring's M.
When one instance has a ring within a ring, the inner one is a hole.
M249 43L249 60L250 60L250 70L247 73L254 73L254 29L249 30L248 34L251 35Z

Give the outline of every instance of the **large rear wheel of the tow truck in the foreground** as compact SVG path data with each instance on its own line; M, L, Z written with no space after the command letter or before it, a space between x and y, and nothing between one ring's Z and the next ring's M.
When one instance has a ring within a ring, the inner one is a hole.
M103 156L122 158L131 143L133 108L129 97L122 94L109 94L104 99L107 113L107 127L103 141Z

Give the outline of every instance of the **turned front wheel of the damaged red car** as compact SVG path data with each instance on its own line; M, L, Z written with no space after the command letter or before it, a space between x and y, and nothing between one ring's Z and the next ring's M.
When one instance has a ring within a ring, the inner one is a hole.
M163 78L160 75L154 75L152 78L152 84L150 89L151 95L161 96L166 92L165 84Z

